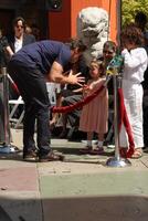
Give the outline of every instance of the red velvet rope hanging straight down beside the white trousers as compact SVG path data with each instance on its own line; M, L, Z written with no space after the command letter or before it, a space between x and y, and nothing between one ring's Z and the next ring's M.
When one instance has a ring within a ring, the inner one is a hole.
M118 96L119 96L119 114L120 114L119 131L121 128L121 123L124 123L124 126L125 126L127 135L128 135L128 141L129 141L129 148L126 151L126 158L130 158L135 150L135 144L134 144L134 137L133 137L133 133L131 133L131 127L129 124L129 119L128 119L125 103L124 103L124 94L123 94L121 88L118 88ZM120 152L120 155L121 155L121 152ZM121 156L121 157L125 157L125 156Z

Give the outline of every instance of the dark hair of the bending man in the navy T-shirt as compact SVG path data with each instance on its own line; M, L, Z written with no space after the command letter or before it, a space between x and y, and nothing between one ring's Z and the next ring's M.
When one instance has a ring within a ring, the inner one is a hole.
M78 49L78 51L81 51L81 52L84 52L86 49L87 49L87 46L83 43L83 41L82 40L80 40L80 39L71 39L71 41L70 41L70 49L71 50L74 50L74 49Z

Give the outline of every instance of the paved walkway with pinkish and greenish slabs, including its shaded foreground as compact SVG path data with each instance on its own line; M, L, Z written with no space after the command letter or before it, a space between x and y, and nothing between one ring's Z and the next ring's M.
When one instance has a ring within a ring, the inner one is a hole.
M22 148L22 131L12 129ZM82 143L52 139L64 162L24 162L0 155L0 221L148 221L148 154L125 168L113 157L78 155Z

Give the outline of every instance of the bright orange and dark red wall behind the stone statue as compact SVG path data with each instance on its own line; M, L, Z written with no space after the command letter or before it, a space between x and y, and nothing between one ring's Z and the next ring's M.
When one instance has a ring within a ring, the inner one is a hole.
M63 0L61 12L49 12L49 38L59 41L67 41L76 36L76 18L78 12L87 7L110 9L110 35L116 41L117 33L117 1L118 0ZM109 4L110 2L110 4Z

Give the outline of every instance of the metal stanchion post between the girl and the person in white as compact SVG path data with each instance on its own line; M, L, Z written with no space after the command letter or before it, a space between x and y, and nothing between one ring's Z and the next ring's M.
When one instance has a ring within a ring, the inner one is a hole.
M115 157L109 158L106 162L108 167L127 167L131 162L119 156L119 129L118 129L118 94L117 87L120 87L121 77L118 74L113 75L114 82L114 136L115 136ZM118 86L117 86L118 85Z

